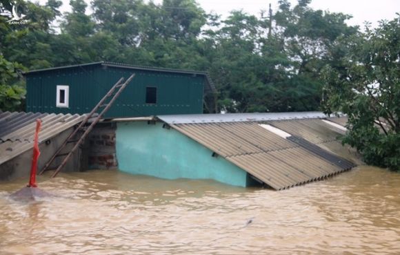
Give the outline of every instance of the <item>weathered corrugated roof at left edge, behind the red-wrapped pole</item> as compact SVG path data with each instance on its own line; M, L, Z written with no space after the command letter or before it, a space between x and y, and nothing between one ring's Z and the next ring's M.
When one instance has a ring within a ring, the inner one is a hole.
M0 113L0 164L32 149L35 120L41 119L39 142L81 122L85 115L48 113Z

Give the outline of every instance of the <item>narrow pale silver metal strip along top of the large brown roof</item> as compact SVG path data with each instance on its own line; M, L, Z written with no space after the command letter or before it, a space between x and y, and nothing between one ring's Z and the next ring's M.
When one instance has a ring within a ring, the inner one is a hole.
M267 120L295 120L325 118L319 111L299 113L226 113L226 114L186 114L159 115L159 120L168 124L221 123L221 122L261 122Z

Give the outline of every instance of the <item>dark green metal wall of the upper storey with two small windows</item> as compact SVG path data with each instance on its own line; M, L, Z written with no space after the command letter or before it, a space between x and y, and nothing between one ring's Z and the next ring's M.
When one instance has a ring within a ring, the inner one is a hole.
M27 75L26 111L88 113L120 77L136 76L106 117L203 113L203 75L81 66ZM70 86L69 108L56 107L57 85ZM146 86L157 87L157 104L146 104Z

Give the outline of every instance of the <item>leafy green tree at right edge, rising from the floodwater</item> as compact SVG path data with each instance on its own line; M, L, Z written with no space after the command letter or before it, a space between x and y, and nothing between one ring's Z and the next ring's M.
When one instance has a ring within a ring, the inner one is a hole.
M349 117L343 142L368 164L400 170L400 16L337 44L340 65L326 66L328 113Z

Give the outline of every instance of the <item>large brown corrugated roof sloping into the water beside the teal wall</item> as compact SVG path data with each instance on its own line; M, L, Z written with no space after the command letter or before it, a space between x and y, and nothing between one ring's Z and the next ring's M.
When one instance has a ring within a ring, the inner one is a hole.
M168 121L177 131L277 190L320 180L354 167L352 162L316 145L336 142L337 136L342 132L340 129L318 119L274 120L277 117L294 116L299 119L320 115L267 113L229 117L175 116L173 119L170 116L160 116L159 119ZM266 121L266 118L270 121ZM201 120L204 123L199 123ZM219 122L212 123L212 120ZM282 130L293 136L290 139L281 138L261 127L260 123L282 127Z

